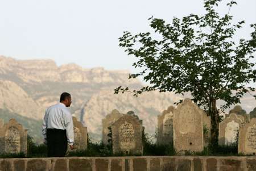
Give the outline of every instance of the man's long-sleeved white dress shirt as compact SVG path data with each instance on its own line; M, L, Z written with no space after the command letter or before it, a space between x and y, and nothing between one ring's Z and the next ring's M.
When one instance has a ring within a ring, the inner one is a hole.
M44 136L44 143L47 143L46 130L59 129L67 131L67 138L69 145L74 143L73 119L71 112L63 103L57 103L46 110L43 120L42 134Z

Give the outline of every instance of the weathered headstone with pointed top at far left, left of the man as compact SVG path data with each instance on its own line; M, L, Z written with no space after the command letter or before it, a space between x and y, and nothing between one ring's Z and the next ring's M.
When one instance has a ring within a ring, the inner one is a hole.
M27 154L27 130L22 124L10 119L0 129L0 153L21 153Z

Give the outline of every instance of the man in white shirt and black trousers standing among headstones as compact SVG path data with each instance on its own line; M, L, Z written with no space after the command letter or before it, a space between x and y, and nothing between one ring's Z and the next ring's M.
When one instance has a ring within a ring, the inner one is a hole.
M71 112L67 109L71 103L71 94L62 93L60 95L60 103L46 110L42 134L44 136L44 144L47 144L48 157L64 157L68 144L73 149L73 119Z

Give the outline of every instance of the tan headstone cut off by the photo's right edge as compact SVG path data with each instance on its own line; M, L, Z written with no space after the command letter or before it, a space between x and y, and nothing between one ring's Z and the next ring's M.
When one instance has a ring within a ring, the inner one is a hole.
M239 130L238 153L245 155L255 155L256 153L256 118L252 118L249 123Z

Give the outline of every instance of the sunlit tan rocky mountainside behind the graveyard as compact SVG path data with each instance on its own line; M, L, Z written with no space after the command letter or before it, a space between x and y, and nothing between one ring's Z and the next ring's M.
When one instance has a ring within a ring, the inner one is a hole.
M114 94L118 86L142 86L139 80L128 80L128 74L128 71L104 68L84 69L76 64L57 66L52 60L0 56L0 109L40 120L44 110L57 103L60 94L67 91L72 94L72 113L85 123L93 139L100 140L101 119L113 109L122 113L133 110L143 119L146 132L152 134L157 115L183 97L158 92L144 93L138 98L133 94ZM241 106L250 112L255 103L248 95ZM36 133L40 134L40 131Z

